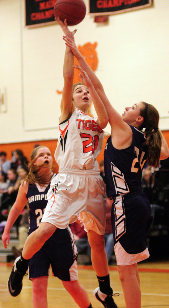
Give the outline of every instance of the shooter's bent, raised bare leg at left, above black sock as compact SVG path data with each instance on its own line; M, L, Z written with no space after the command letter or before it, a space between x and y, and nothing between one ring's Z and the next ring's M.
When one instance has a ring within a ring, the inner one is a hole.
M43 246L46 240L52 236L55 232L56 227L53 224L42 222L34 232L32 232L26 239L22 256L28 260Z

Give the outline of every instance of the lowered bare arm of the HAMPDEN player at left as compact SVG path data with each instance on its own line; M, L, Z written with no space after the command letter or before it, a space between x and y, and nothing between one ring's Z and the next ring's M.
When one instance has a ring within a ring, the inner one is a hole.
M15 223L16 219L18 218L19 214L23 211L25 205L27 204L27 189L28 185L24 182L23 185L21 184L19 187L18 195L16 198L15 203L11 207L11 211L9 212L7 221L6 221L6 226L4 228L4 232L2 234L2 242L5 247L7 248L10 240L10 231Z

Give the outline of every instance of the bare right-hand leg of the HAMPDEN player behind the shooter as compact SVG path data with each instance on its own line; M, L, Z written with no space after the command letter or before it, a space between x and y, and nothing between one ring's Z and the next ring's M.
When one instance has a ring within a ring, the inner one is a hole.
M74 301L80 308L87 308L90 306L90 299L85 288L80 285L78 280L62 281L65 289L73 297Z

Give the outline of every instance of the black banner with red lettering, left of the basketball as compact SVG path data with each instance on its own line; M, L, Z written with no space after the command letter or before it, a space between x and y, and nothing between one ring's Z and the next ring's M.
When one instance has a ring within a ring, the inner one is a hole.
M42 26L54 23L53 8L56 0L25 0L26 26Z

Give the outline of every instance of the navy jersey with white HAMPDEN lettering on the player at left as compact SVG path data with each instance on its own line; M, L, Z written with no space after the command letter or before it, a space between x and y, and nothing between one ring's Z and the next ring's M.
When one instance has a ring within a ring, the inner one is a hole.
M52 179L56 176L54 173ZM49 190L50 183L48 186L44 186L42 189L38 184L36 186L29 184L27 191L27 200L29 203L29 230L28 235L35 231L41 222L45 207L48 203L47 192Z

